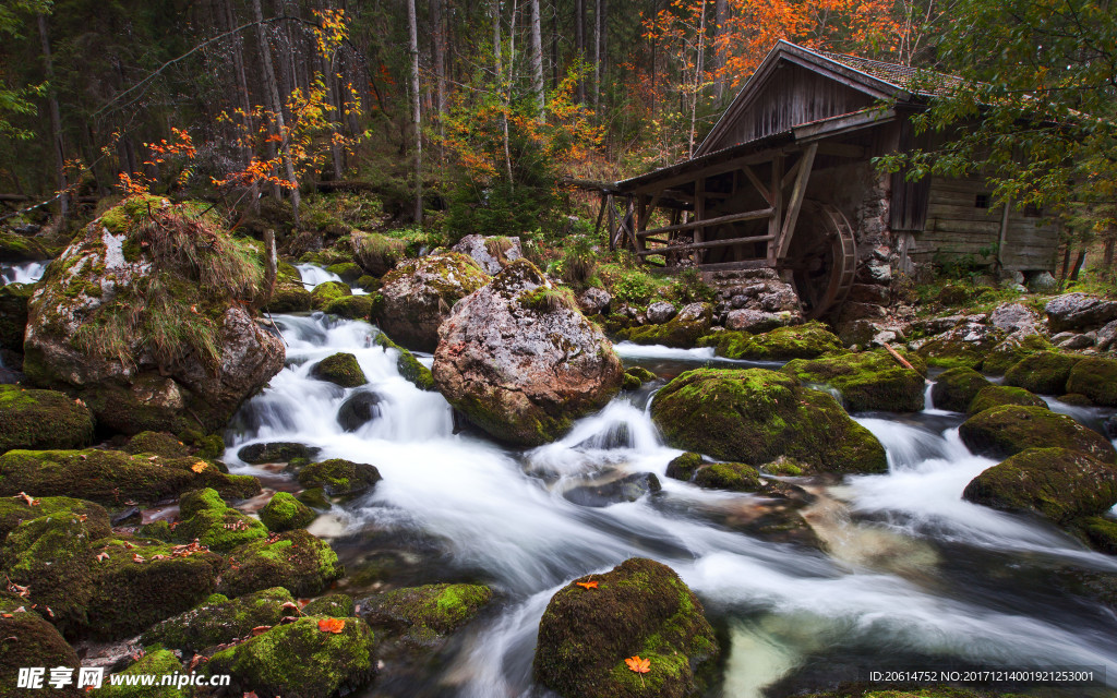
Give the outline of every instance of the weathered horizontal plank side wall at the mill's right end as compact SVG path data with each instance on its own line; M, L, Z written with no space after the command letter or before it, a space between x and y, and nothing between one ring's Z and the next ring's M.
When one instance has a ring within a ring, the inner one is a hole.
M953 180L935 176L930 182L927 223L915 233L916 262L927 264L936 255L973 255L978 262L993 262L982 251L995 249L1001 238L1002 207L977 208L978 194L991 189L980 180ZM1009 211L1009 228L1001 260L1009 270L1052 269L1058 252L1058 232L1051 221L1027 217L1014 207Z

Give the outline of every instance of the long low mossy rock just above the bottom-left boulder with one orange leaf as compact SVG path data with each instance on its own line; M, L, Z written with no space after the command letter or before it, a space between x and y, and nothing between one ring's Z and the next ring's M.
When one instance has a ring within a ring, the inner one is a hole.
M254 628L275 625L284 616L299 615L290 592L281 586L228 600L217 595L185 613L169 618L144 631L144 646L162 644L175 650L201 652L251 635Z

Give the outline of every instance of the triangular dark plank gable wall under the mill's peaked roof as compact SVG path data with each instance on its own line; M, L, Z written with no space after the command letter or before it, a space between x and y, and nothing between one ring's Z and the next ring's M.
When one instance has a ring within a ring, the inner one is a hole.
M871 106L872 97L794 65L782 65L710 150Z

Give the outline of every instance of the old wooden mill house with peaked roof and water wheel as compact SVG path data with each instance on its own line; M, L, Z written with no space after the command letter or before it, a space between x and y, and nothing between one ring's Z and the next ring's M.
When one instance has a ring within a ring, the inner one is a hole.
M917 77L779 42L694 157L604 190L611 243L667 269L779 269L813 317L855 284L887 285L933 260L1051 270L1058 235L1039 211L994 208L980 179L909 182L872 164L926 145L910 116L958 80L920 88Z

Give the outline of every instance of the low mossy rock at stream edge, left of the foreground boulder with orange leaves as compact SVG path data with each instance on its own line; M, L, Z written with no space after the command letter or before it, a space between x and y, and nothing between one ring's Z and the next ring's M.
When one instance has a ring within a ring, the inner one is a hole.
M370 596L361 615L378 631L426 646L468 623L491 599L493 590L480 584L428 584Z

